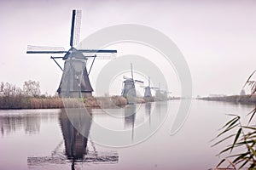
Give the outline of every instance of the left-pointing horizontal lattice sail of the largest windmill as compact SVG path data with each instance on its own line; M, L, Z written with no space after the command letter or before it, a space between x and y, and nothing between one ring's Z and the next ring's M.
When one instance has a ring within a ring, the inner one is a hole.
M67 51L65 51L65 48L62 48L62 47L28 45L26 49L26 54L63 54L63 53L67 53Z

